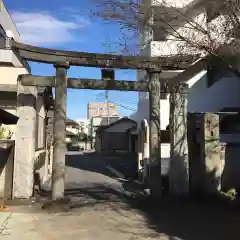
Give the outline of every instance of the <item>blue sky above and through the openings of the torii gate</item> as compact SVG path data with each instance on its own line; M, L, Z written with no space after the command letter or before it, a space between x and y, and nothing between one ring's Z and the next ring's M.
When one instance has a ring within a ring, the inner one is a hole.
M110 49L108 40L118 40L119 26L104 24L91 18L91 1L88 0L5 0L13 20L25 43L65 50L104 53ZM30 63L32 74L54 75L51 65ZM100 78L97 68L71 67L71 77ZM116 70L117 79L135 80L136 72ZM102 91L68 89L67 115L72 119L86 118L87 103L103 101ZM99 95L100 94L100 95ZM109 92L110 100L123 105L119 107L122 116L137 108L137 92Z

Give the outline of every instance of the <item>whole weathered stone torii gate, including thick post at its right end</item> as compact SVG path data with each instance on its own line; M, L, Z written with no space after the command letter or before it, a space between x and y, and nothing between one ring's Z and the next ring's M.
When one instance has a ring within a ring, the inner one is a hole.
M193 62L193 58L186 56L142 58L131 56L117 56L110 54L93 54L82 52L62 51L55 49L39 48L25 45L15 41L11 42L12 50L22 59L27 61L54 64L56 76L20 75L19 84L22 88L29 86L55 88L55 113L53 125L53 171L52 171L52 200L64 198L65 175L65 129L66 129L66 98L67 88L119 90L119 91L144 91L149 92L149 132L150 132L150 190L153 196L161 195L161 136L160 136L160 93L162 70L186 69ZM99 68L118 68L146 70L149 81L118 81L112 75L101 80L68 78L67 69L70 66L86 66ZM166 82L164 83L166 84ZM165 88L164 88L165 89ZM173 104L171 104L171 136L172 147L172 185L176 192L188 189L188 156L186 138L186 95L182 94L187 89L186 84L169 85ZM175 102L177 104L175 104ZM184 103L184 104L182 104ZM180 116L178 117L180 113ZM179 125L181 127L179 128ZM180 141L180 143L179 143ZM184 146L182 145L184 143Z

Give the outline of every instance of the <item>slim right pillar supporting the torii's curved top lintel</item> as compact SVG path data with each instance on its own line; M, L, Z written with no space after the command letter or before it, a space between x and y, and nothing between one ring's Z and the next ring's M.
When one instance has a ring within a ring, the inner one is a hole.
M150 194L159 197L161 187L160 71L149 71Z

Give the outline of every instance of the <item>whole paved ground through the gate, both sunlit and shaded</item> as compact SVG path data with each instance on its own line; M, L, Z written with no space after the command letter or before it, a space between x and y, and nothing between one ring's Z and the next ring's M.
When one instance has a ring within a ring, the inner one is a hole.
M238 239L239 215L186 202L162 200L157 208L133 183L119 181L96 155L67 160L69 212L43 212L33 204L0 213L3 240L225 240ZM138 190L138 189L137 189ZM131 195L131 194L133 195ZM135 195L136 194L136 195Z

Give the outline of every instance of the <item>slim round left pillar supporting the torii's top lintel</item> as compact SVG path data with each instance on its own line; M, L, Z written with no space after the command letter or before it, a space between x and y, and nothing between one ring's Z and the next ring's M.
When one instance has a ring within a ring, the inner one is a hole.
M67 63L55 65L55 112L53 122L52 200L64 198L66 155Z

